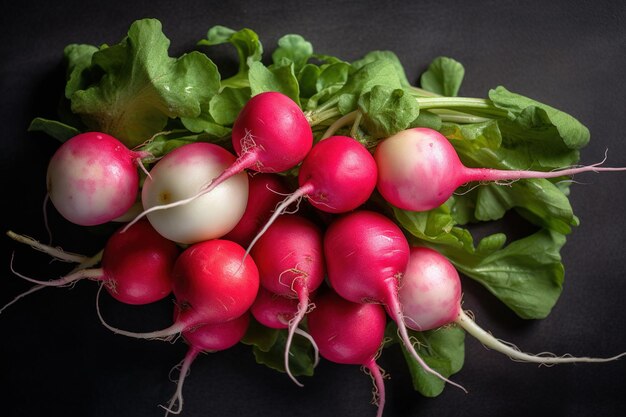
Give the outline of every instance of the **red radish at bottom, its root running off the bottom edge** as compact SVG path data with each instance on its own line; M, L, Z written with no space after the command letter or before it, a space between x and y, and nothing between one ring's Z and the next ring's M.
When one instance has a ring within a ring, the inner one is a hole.
M376 417L385 407L385 384L376 363L382 349L387 316L380 304L347 301L332 291L316 299L308 315L309 331L325 359L347 365L361 365L374 379L378 400Z

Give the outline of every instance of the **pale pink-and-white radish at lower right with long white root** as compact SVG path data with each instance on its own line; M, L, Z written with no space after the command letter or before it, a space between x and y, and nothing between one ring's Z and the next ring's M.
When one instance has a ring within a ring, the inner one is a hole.
M570 355L556 357L531 355L496 339L480 328L461 308L461 280L452 263L434 249L412 247L409 265L398 291L404 322L418 331L456 323L478 339L485 347L503 353L515 361L551 365L567 362L608 362L611 358L576 358Z

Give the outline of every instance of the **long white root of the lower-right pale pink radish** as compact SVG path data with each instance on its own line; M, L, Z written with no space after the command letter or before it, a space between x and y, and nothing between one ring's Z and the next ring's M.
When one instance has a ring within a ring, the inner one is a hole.
M483 328L478 326L471 317L469 317L463 310L459 313L459 316L455 322L463 327L465 331L474 336L480 343L489 349L493 349L500 353L507 355L514 361L518 362L531 362L541 365L555 365L559 363L574 363L574 362L611 362L617 360L623 356L626 356L626 352L621 353L610 358L589 358L589 357L573 357L570 355L556 356L551 353L540 353L537 355L529 354L520 351L516 347L513 347L499 339L493 337L490 333L486 332Z

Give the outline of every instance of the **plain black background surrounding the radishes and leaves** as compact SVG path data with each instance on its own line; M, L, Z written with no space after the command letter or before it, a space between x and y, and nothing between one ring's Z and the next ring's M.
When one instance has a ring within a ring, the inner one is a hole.
M2 230L46 240L42 217L47 160L57 143L26 128L35 116L55 116L63 88L61 56L69 43L116 43L132 21L156 17L171 39L171 54L194 48L209 27L221 24L258 32L269 56L276 40L299 33L316 52L353 60L374 49L395 51L409 79L436 56L466 68L461 95L484 97L508 89L565 110L592 133L583 162L626 166L626 6L619 1L88 1L3 2L0 14L0 135ZM6 7L5 7L6 4ZM279 6L279 4L281 4ZM227 70L229 47L207 53ZM482 287L465 279L466 309L496 336L530 352L611 356L626 351L624 297L626 174L576 178L571 201L581 225L568 237L563 294L544 320L517 318ZM103 236L68 225L51 210L54 242L91 254ZM516 222L501 225L524 232ZM39 278L67 271L60 263L2 238L0 304L30 284L9 270ZM100 326L97 286L48 289L0 315L0 415L159 416L175 386L168 372L185 345L130 340ZM112 324L140 330L170 319L169 301L125 309L103 300ZM146 329L147 330L147 329ZM466 359L455 381L433 399L411 388L397 349L380 364L386 381L385 416L626 415L626 359L609 364L537 367L515 363L466 340ZM187 379L183 415L374 416L371 382L358 367L323 361L296 387L284 374L257 365L246 346L203 355Z

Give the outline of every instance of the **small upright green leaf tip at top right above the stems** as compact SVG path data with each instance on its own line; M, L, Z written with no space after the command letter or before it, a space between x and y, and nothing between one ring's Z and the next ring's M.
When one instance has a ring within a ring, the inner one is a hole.
M422 88L433 93L456 97L465 76L465 68L460 62L448 57L438 57L420 77Z

